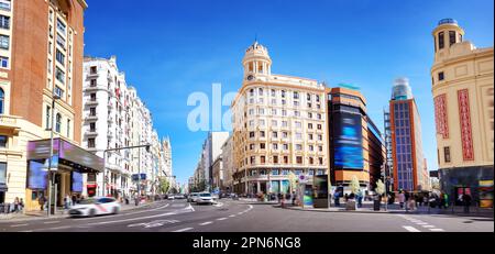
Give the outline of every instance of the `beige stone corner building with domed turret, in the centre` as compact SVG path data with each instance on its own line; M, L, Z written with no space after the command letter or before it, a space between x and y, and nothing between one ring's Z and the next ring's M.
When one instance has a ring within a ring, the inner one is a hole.
M257 42L242 65L244 79L232 102L234 191L286 192L289 172L324 175L324 85L272 74L268 51Z

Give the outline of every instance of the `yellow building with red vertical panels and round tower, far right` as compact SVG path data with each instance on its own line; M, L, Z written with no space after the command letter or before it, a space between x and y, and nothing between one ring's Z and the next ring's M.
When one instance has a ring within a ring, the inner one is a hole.
M432 33L431 68L437 124L439 178L443 191L477 198L481 180L493 180L493 47L464 41L454 20L441 20Z

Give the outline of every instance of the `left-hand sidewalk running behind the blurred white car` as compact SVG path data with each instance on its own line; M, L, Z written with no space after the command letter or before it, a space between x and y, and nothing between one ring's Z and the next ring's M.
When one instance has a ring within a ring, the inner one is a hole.
M134 202L130 202L129 205L121 203L120 211L134 210L140 208L148 207L158 201L145 202L141 203L139 207L134 205ZM58 219L58 218L67 218L68 210L64 210L62 208L57 208L56 214L47 217L47 211L25 211L23 213L0 213L0 222L14 222L14 221L29 221L29 220L48 220L48 219Z

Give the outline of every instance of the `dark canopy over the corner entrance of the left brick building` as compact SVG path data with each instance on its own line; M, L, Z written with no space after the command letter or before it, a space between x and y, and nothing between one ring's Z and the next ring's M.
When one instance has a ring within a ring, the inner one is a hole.
M30 141L28 143L28 161L50 158L51 140ZM54 161L70 166L81 173L103 172L103 158L63 139L53 140Z

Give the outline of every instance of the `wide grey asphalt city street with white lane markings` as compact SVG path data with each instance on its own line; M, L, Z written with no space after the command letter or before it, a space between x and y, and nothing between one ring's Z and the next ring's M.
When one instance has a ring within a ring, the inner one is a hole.
M493 218L316 212L221 199L158 201L117 216L1 221L0 232L493 232Z

